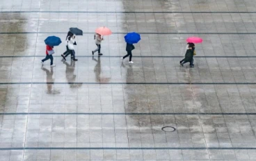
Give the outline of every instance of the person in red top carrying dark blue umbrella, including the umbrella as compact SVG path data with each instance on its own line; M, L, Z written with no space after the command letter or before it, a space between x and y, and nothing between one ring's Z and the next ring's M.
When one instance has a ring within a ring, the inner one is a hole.
M51 60L51 67L55 67L54 65L54 57L52 54L54 54L54 46L58 46L61 44L61 39L56 36L49 36L47 39L45 39L45 44L46 44L46 56L44 59L41 60L42 65L44 65L44 62L46 60Z

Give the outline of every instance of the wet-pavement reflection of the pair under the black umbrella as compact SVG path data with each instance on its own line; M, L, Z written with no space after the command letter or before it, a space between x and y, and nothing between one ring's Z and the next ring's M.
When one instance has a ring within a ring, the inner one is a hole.
M70 83L70 87L81 87L81 84L72 84L75 83L75 80L77 76L74 74L74 69L76 67L76 62L75 61L70 61L70 64L67 62L63 62L63 64L66 65L66 78L67 78L67 83Z

